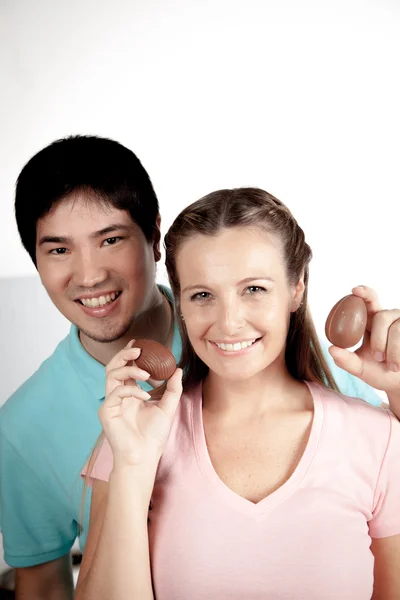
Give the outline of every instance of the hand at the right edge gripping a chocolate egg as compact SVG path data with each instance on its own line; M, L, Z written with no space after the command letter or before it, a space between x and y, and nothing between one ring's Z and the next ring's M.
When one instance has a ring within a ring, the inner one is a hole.
M352 293L367 307L363 343L355 352L337 346L331 346L329 352L341 369L383 390L389 399L400 397L400 310L382 310L372 288L359 286Z

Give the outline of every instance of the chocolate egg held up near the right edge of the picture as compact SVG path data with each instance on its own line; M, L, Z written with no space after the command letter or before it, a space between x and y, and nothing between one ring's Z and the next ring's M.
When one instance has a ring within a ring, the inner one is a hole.
M325 324L325 335L339 348L358 344L367 326L367 307L364 300L350 294L335 304Z

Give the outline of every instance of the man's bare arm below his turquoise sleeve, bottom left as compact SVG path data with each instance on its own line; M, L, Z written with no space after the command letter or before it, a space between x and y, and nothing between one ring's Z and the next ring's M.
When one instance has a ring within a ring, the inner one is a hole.
M16 570L16 600L72 600L74 585L70 555Z

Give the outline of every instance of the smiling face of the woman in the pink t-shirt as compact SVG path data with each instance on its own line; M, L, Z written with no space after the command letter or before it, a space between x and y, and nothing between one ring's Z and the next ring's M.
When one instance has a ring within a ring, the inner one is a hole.
M187 333L211 371L243 380L272 364L284 368L304 285L289 286L276 236L253 227L199 234L181 246L176 265Z

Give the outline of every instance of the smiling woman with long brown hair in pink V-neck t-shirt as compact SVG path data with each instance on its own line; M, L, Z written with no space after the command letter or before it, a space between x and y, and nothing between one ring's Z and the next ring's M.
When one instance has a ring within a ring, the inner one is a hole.
M184 393L177 369L148 402L133 343L109 364L77 600L399 598L400 423L336 391L303 231L270 194L222 190L165 246Z

